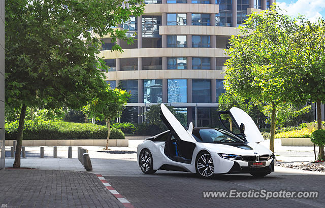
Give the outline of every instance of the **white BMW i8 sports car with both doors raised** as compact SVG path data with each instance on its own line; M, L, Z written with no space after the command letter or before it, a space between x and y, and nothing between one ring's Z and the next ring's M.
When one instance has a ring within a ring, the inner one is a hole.
M251 174L263 177L274 171L275 156L266 147L254 121L243 110L219 111L220 128L188 130L161 104L160 118L168 131L146 138L138 145L138 164L145 174L156 170L214 174Z

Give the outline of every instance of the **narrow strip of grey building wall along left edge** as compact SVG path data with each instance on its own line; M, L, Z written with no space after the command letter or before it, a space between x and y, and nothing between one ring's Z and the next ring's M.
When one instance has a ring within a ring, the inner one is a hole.
M0 1L0 169L5 167L5 0Z

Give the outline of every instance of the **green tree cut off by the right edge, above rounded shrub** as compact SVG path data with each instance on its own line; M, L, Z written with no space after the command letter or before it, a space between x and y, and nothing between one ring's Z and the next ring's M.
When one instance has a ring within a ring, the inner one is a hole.
M321 129L321 102L325 102L325 21L319 19L311 23L301 20L300 30L296 33L293 47L296 48L293 73L301 77L295 87L300 93L307 94L310 101L316 102L317 126ZM298 86L298 87L297 87ZM325 159L324 146L319 145L318 159Z

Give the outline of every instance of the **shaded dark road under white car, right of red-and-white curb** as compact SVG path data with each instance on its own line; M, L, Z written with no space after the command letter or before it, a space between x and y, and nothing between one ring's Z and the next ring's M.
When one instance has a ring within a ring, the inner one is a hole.
M324 207L323 175L284 175L256 179L248 175L223 175L212 180L193 174L158 173L157 177L105 179L135 207ZM317 199L203 198L203 191L250 189L268 191L319 191Z

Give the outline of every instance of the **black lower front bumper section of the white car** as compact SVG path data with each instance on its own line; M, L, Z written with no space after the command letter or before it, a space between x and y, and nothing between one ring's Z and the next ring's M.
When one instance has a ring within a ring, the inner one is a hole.
M232 168L227 172L227 174L250 174L252 172L274 172L275 157L272 159L271 163L265 167L248 167L240 166L240 164L234 161Z

